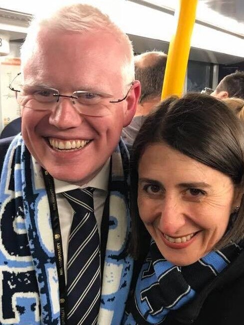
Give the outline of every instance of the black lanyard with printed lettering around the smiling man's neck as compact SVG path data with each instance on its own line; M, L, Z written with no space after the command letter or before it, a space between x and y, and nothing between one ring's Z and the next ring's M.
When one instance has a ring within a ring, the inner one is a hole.
M60 304L60 324L67 324L67 292L65 284L64 264L63 264L63 246L61 237L61 228L59 223L59 215L57 208L57 200L55 194L54 181L52 176L42 168L44 183L46 187L48 203L50 208L50 217L53 232L54 252L58 274L59 286L59 304ZM109 173L109 184L111 184L111 163ZM103 278L103 266L105 261L105 253L108 238L109 228L109 191L104 203L102 223L101 223L101 238L100 238L100 252L101 252L101 280Z

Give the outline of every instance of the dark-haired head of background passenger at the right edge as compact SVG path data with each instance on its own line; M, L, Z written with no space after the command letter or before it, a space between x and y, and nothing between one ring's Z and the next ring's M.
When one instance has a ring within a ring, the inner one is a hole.
M244 71L236 71L223 78L211 95L219 99L228 97L244 99Z

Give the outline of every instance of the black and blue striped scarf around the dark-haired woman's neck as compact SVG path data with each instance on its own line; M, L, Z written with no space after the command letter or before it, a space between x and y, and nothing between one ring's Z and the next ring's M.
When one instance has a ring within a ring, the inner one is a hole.
M123 324L167 324L167 314L190 303L234 261L242 248L232 244L210 252L192 265L179 267L168 262L152 241Z

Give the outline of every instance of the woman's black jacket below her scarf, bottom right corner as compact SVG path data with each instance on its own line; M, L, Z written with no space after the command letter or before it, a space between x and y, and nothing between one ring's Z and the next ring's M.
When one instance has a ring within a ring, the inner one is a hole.
M244 325L244 251L189 305L165 325Z

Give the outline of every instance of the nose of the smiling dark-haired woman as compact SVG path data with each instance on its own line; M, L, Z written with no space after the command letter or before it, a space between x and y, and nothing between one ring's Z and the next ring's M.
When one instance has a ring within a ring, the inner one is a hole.
M160 230L171 236L180 234L186 224L186 204L175 195L166 195L161 205Z

